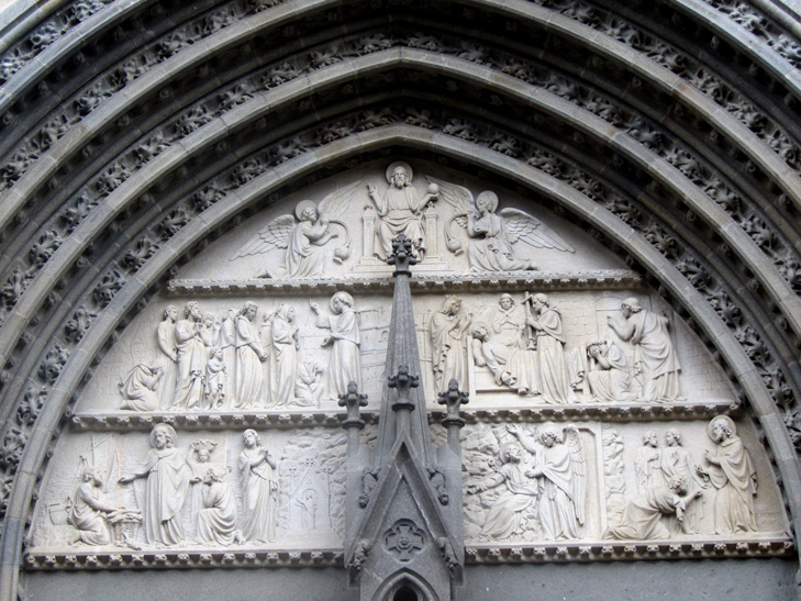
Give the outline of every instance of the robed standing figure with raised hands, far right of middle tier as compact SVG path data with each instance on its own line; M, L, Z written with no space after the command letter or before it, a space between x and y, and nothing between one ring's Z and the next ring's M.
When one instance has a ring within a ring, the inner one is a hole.
M634 372L643 378L643 400L678 401L679 358L668 334L668 320L639 307L630 298L621 304L624 321L612 315L609 326L634 345Z

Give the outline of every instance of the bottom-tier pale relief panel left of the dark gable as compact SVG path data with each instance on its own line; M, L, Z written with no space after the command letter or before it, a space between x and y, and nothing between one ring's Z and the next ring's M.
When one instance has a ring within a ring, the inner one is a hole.
M79 434L59 452L33 547L340 546L345 435L331 429Z

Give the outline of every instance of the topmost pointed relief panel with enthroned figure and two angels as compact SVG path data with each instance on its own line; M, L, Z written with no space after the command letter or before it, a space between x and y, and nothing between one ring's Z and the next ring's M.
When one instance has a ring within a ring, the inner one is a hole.
M374 162L251 218L235 236L224 236L183 267L181 277L381 278L391 272L383 259L400 233L421 258L418 274L624 268L557 215L523 210L526 203L531 199L487 190L436 165Z

